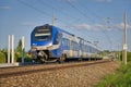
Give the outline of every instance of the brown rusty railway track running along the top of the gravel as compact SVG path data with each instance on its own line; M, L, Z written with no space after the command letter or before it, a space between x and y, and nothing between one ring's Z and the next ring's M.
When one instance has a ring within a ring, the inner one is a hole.
M96 64L107 63L107 62L110 62L110 61L109 60L99 60L99 61L63 63L63 64L47 64L47 65L46 64L37 64L37 65L2 69L0 72L0 78L27 75L27 74L32 74L32 73L64 70L64 69L69 69L69 67L90 66L90 65L96 65Z

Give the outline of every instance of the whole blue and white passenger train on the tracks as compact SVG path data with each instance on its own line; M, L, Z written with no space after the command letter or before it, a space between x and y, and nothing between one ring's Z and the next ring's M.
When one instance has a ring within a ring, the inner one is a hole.
M35 61L102 59L88 41L52 25L36 26L31 34L31 52Z

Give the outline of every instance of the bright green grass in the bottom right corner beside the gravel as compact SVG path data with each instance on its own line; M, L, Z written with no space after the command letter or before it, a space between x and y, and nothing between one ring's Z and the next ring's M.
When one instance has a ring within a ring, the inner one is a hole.
M116 74L107 75L96 87L131 87L131 62L121 64Z

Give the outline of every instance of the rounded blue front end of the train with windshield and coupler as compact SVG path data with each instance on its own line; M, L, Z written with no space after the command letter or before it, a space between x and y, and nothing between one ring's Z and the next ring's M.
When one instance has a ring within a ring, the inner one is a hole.
M37 26L31 34L31 53L34 61L45 62L52 58L56 29L50 25Z

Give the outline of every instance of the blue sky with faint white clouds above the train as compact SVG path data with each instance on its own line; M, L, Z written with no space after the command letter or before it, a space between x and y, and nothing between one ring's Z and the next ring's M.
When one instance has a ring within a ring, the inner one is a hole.
M14 35L15 47L25 37L31 48L34 27L52 24L102 50L122 50L127 12L128 51L131 51L131 0L0 0L0 49Z

